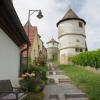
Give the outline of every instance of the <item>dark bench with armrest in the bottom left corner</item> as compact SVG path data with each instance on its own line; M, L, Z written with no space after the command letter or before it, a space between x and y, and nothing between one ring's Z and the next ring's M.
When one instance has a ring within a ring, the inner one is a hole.
M0 80L0 100L27 100L27 92L14 89L10 80Z

